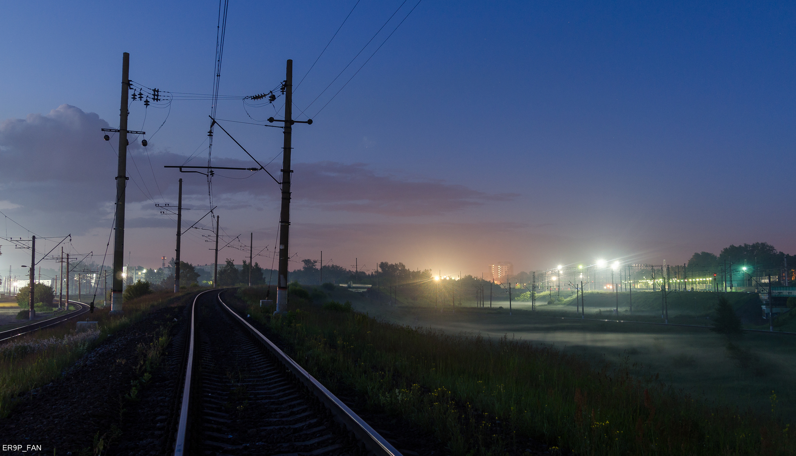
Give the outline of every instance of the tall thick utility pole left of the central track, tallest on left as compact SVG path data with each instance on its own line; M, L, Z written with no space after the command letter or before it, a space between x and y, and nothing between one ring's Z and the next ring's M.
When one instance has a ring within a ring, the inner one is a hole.
M113 242L111 312L122 312L124 268L124 200L127 188L127 98L130 93L130 54L122 54L122 102L119 107L119 165L116 172L116 226ZM68 303L67 303L68 304Z

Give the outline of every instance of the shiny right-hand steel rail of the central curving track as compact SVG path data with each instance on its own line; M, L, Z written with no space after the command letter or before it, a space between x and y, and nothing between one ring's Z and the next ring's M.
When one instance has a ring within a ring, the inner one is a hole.
M234 310L230 309L228 305L221 300L221 293L218 294L218 301L227 310L227 312L236 318L240 324L247 328L249 332L252 333L252 336L255 336L257 340L260 341L266 348L268 348L271 353L276 356L276 359L282 362L288 370L290 370L293 375L296 376L307 388L310 389L314 393L321 402L326 405L326 407L338 418L341 420L345 427L348 428L353 434L365 445L369 451L372 451L373 454L377 454L377 456L402 456L398 450L396 450L392 445L390 445L387 440L384 439L376 430L373 430L373 427L370 427L368 423L365 423L365 420L361 419L356 413L354 413L348 406L345 405L337 396L333 395L331 391L326 389L317 379L315 379L309 372L305 371L304 368L298 365L294 360L291 359L290 356L287 356L285 352L283 352L279 347L277 347L271 340L268 340L266 336L263 336L262 332L259 332L254 326L248 323L248 321L244 320L243 317L238 315ZM191 334L192 342L191 346L193 347L193 332ZM175 453L176 454L176 453Z

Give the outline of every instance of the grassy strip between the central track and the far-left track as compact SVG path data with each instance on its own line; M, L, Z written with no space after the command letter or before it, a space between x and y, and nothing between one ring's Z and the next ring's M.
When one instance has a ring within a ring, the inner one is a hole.
M0 344L0 417L10 413L15 397L57 379L65 368L108 335L135 324L155 309L180 305L188 296L187 293L149 294L125 302L123 315L111 315L110 307L95 309L87 320L99 322L96 332L76 333L76 323L72 321Z

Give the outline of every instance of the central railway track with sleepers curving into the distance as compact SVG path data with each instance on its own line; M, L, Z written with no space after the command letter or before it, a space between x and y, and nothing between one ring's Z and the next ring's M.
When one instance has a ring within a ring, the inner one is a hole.
M221 295L200 293L189 309L175 456L400 456Z

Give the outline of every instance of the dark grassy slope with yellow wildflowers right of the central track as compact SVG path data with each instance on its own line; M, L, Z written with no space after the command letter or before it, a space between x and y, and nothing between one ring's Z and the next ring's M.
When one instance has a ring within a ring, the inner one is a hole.
M295 357L334 391L344 383L370 407L434 432L453 454L505 454L536 438L578 454L793 454L793 430L771 415L716 407L638 379L632 366L595 368L521 341L451 336L322 309L296 295L286 316L240 297L289 341ZM555 449L554 449L555 450Z

